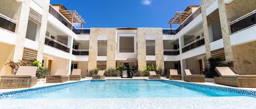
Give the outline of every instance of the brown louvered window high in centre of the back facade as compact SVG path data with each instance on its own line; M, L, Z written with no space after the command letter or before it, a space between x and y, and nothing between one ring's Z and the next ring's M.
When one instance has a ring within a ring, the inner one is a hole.
M119 52L130 53L134 52L134 37L133 36L120 36L119 37Z

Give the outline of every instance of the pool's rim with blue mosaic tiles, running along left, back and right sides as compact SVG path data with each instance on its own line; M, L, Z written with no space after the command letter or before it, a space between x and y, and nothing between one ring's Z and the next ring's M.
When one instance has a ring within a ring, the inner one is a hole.
M205 84L198 84L194 82L184 82L184 81L176 81L176 80L166 80L166 79L101 79L101 80L81 80L81 81L74 81L74 82L68 82L68 83L63 83L63 84L57 84L57 85L50 85L50 86L43 86L43 87L34 87L34 88L27 88L27 89L20 89L17 91L9 91L9 92L2 92L0 93L0 100L1 99L8 99L8 98L14 98L18 97L23 94L30 94L30 93L35 93L39 91L46 91L49 89L54 89L54 88L61 88L61 87L68 87L72 86L74 84L79 84L80 82L86 82L86 81L106 81L106 80L147 80L147 81L168 81L171 82L172 85L180 86L180 87L201 87L201 88L210 88L210 89L216 89L218 91L227 91L231 93L239 93L243 94L249 97L254 97L256 98L256 91L251 91L248 89L240 89L236 87L225 87L225 86L215 86L215 85L205 85ZM186 88L185 87L185 88Z

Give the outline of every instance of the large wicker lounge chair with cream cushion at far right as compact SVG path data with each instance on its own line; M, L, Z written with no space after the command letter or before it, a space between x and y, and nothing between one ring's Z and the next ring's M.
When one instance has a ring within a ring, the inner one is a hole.
M238 75L229 67L216 67L215 70L220 77L214 77L215 84L256 88L256 75Z

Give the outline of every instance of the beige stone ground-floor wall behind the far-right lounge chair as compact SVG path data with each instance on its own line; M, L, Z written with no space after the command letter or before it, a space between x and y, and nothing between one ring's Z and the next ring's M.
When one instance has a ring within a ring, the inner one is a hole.
M256 74L256 41L232 46L232 53L237 74Z

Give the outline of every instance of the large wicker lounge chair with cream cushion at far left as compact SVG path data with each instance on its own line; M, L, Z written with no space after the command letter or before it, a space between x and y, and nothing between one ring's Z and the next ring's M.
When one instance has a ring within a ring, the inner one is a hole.
M37 67L20 66L16 75L2 75L0 88L27 88L37 84Z

